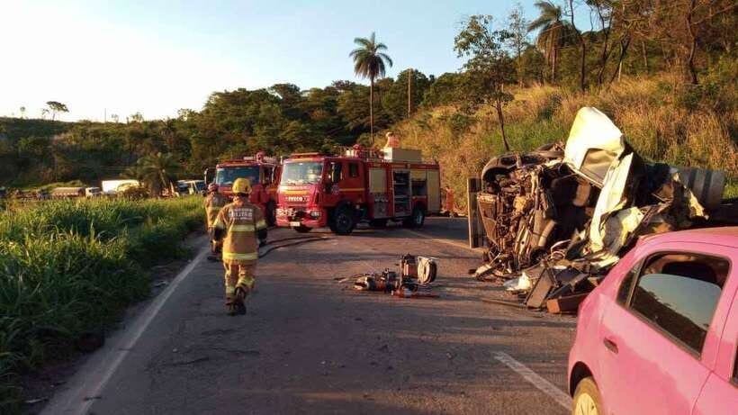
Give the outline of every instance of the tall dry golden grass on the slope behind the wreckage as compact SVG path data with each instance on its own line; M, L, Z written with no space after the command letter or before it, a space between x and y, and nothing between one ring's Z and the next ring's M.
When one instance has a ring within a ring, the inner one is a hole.
M515 101L504 110L510 147L527 151L564 142L577 111L595 106L608 114L644 158L725 170L729 177L725 197L738 196L738 113L725 105L717 111L704 104L706 100L685 106L674 85L673 79L662 76L625 79L588 93L552 86L518 89ZM393 128L403 144L422 149L424 156L441 163L444 184L451 185L455 194L465 194L466 177L478 175L491 157L504 150L497 117L487 110L470 117L451 107L433 108ZM456 200L465 208L464 197Z

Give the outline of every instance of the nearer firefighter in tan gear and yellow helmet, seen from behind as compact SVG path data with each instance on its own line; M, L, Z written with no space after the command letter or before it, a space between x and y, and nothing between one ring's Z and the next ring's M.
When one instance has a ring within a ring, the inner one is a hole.
M266 240L266 220L261 208L248 202L248 179L236 179L232 190L235 197L218 213L214 235L223 239L226 307L229 315L236 315L246 314L244 300L256 283L254 271L258 248Z

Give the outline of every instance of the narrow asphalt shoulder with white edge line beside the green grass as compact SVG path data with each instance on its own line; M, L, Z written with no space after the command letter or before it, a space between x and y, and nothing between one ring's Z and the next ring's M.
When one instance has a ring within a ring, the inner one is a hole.
M157 316L166 300L208 253L210 253L210 247L202 248L197 256L193 258L192 262L176 275L172 283L157 295L153 302L148 304L146 310L141 312L133 324L121 333L120 338L118 338L118 341L112 347L109 347L103 355L95 356L97 358L91 358L88 361L89 365L84 365L76 373L75 378L82 379L81 384L73 385L69 390L61 393L60 396L49 402L49 405L41 412L41 415L83 415L87 413L94 401L100 397L105 384L110 381L112 374L121 365L123 359L128 356L130 350L136 346L139 338L146 331L151 321Z

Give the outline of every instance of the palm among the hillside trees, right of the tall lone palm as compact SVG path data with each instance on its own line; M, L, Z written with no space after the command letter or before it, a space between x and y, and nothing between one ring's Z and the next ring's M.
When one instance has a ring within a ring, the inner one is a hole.
M571 23L562 20L563 11L558 5L551 2L537 2L536 7L541 15L528 24L528 32L540 29L536 37L536 48L541 50L545 59L551 63L551 82L553 83L556 80L559 49L572 34Z

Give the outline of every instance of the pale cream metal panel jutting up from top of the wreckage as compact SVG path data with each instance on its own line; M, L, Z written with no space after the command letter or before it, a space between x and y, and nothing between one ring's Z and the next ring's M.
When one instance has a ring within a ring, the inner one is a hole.
M596 185L603 185L608 168L626 149L623 132L607 115L583 107L574 119L563 160Z

